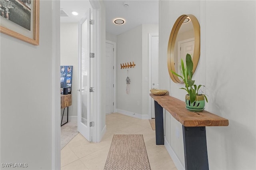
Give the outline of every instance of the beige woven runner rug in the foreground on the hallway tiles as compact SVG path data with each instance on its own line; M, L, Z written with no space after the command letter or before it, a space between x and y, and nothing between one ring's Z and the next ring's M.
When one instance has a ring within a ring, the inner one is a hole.
M151 170L142 134L114 134L104 170Z

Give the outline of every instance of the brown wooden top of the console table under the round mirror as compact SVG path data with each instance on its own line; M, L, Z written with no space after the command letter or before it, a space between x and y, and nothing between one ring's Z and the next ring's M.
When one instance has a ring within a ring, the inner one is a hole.
M224 119L208 111L189 111L186 109L185 102L175 97L169 95L158 96L152 93L150 93L150 96L184 127L228 126L228 119Z

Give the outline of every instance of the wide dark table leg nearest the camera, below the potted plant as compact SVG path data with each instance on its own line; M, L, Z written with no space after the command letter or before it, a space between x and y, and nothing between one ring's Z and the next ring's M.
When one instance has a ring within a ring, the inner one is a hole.
M186 170L209 170L205 127L182 128Z

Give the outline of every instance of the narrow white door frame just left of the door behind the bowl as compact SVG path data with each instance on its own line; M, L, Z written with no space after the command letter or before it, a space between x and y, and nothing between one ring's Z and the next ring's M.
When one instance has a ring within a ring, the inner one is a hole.
M152 43L151 43L151 40L152 40L152 37L153 36L159 36L159 33L149 33L148 34L148 93L151 93L150 92L150 89L151 89L151 71L152 71L152 62L151 62L151 58L152 58L152 53L151 53L151 46L152 46ZM148 95L148 119L151 119L152 118L152 115L151 115L151 100L152 100L152 97L150 95Z

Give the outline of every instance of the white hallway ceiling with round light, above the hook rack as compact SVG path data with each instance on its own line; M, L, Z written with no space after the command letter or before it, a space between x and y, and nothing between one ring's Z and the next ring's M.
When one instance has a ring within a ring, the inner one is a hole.
M158 24L158 0L104 0L104 4L106 32L111 34L118 35L141 24ZM116 25L115 18L123 18L126 22Z

